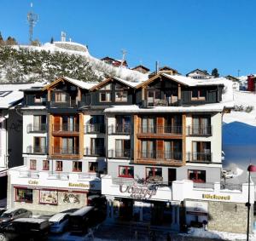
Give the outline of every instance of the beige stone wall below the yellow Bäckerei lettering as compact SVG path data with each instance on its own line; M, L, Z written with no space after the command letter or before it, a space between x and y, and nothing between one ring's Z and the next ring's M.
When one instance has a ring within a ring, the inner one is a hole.
M245 204L208 202L208 229L224 232L247 232L247 207ZM253 205L250 212L252 232Z

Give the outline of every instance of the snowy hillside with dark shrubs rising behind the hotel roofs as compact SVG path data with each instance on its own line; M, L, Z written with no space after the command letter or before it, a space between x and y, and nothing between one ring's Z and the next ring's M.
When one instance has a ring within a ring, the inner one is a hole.
M114 76L141 82L147 75L108 65L91 56L86 46L72 42L45 43L43 46L0 48L0 83L50 82L67 76L84 81L101 81Z

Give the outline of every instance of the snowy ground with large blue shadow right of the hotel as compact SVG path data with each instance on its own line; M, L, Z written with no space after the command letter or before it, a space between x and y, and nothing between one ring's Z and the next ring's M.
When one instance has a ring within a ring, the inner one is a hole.
M256 95L247 91L235 91L234 100L236 106L253 106L253 110L224 114L223 164L224 169L232 169L237 175L231 182L246 182L248 164L256 164ZM254 174L253 181L256 182Z

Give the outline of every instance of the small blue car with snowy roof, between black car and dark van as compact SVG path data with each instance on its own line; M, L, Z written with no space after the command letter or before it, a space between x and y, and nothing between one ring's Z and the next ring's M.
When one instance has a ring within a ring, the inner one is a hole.
M69 214L59 213L49 218L49 232L60 233L67 230Z

